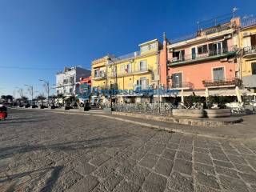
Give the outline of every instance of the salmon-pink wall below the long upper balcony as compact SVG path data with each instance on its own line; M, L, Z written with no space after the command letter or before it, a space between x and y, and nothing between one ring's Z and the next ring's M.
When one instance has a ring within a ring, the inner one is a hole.
M195 63L190 65L173 66L169 67L168 74L182 72L182 81L190 82L194 90L205 89L203 80L213 80L212 69L214 67L224 66L225 78L235 78L235 65L234 63L211 61Z

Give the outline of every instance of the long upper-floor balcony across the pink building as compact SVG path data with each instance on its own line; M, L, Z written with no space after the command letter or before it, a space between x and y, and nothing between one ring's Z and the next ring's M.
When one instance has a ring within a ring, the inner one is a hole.
M172 58L169 61L168 66L179 66L196 62L206 62L220 58L229 58L234 56L237 50L237 48L232 46L226 49L208 50L207 52L202 54L186 54L180 58Z

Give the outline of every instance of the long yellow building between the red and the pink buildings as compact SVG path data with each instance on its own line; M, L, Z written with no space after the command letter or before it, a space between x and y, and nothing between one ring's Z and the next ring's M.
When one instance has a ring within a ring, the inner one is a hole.
M161 44L158 39L144 42L139 51L115 57L107 55L92 62L92 87L114 90L147 90L156 88L159 84L158 51ZM138 102L143 99L147 102L150 98L129 97L126 94L118 95L118 100L123 102ZM147 100L147 101L146 101Z

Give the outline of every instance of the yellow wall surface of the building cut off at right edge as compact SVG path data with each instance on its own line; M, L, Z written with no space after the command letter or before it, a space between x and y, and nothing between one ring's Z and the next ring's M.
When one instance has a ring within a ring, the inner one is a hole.
M243 45L243 33L250 32L250 34L256 34L256 26L252 26L247 29L243 29L240 31L240 46L241 48L244 48L245 45ZM252 74L251 70L251 63L256 62L256 57L253 58L242 58L242 77L248 76Z

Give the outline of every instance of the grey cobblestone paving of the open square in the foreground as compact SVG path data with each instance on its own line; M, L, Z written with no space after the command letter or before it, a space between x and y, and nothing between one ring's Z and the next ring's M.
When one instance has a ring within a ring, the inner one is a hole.
M256 143L13 110L0 122L0 191L255 192Z

